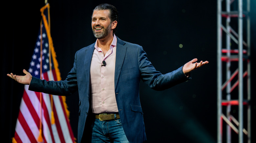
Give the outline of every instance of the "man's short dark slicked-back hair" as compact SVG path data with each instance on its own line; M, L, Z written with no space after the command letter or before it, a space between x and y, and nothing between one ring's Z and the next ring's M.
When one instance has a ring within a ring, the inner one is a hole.
M100 4L100 5L96 6L96 8L94 8L94 10L109 10L109 18L110 18L111 22L117 21L117 23L118 23L118 12L117 12L117 8L115 8L114 6L112 6L110 4ZM115 29L113 29L113 34L116 31L117 31L117 26Z

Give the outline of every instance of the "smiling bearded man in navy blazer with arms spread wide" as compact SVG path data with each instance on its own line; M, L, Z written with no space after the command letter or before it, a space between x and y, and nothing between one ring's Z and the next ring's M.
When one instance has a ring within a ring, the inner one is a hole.
M94 9L92 30L97 40L76 52L74 67L64 81L40 80L26 70L25 76L7 74L37 92L71 95L78 90L78 143L145 141L140 79L155 90L164 90L189 80L191 71L208 63L193 59L162 75L141 46L116 37L117 22L114 6L101 4Z

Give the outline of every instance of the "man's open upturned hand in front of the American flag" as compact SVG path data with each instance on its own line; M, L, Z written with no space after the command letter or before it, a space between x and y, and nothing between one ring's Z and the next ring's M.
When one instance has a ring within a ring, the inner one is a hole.
M13 75L13 73L11 73L11 74L7 74L7 76L11 77L18 83L21 83L24 85L29 85L32 80L32 75L26 70L23 70L23 73L25 73L26 75L23 75L23 76L16 75L16 74Z

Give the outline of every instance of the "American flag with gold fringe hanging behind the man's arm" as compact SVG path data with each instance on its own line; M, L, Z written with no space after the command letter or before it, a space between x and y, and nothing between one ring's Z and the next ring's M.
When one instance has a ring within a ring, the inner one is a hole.
M41 8L42 22L30 62L32 76L61 80L48 23L49 4ZM25 85L13 143L74 143L64 96L28 90Z

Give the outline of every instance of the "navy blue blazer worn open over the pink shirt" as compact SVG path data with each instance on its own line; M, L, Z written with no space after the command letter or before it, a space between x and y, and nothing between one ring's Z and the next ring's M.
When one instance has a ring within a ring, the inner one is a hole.
M53 95L79 93L78 143L81 142L90 106L90 66L95 43L75 53L74 67L64 81L45 81L32 77L29 90ZM187 81L182 67L161 74L148 60L142 47L117 38L115 94L122 126L130 143L146 140L143 112L139 100L139 82L155 90L164 90Z

